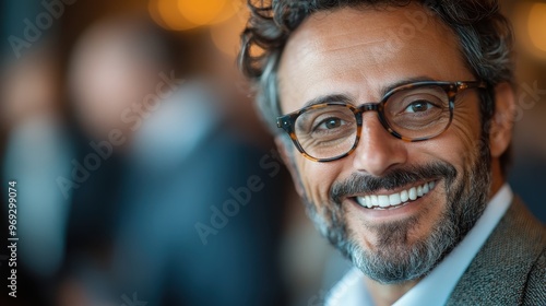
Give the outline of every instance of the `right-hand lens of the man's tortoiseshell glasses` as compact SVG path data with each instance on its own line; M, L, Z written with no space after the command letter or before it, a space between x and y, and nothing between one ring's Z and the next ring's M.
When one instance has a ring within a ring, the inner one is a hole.
M394 131L410 139L435 137L451 120L449 96L437 85L394 93L387 99L383 114Z

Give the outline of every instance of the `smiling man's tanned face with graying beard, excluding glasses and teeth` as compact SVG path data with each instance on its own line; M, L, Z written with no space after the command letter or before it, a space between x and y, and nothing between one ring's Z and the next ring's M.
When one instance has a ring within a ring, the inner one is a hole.
M447 26L416 5L316 13L283 52L281 107L287 114L333 94L355 106L378 102L405 80L473 81L458 46ZM368 111L356 151L342 160L317 163L293 145L286 150L322 234L370 278L396 283L430 271L483 212L490 155L482 138L478 92L467 90L458 95L450 128L427 141L399 140ZM395 207L358 204L365 196L425 185L426 195Z

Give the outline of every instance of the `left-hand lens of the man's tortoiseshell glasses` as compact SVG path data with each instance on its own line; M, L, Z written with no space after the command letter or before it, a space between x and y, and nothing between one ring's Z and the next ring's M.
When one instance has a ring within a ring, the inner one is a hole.
M347 153L356 141L354 113L342 105L323 105L302 113L295 122L296 138L314 158L332 158Z

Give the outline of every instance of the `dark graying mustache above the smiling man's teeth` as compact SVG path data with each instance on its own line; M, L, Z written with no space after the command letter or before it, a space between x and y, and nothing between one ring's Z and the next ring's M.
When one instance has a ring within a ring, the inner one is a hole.
M446 162L434 162L422 166L396 168L384 176L375 177L365 174L352 174L348 178L336 181L330 189L330 199L341 204L341 199L355 193L373 193L381 189L395 189L418 180L446 179L446 186L456 178L456 169Z

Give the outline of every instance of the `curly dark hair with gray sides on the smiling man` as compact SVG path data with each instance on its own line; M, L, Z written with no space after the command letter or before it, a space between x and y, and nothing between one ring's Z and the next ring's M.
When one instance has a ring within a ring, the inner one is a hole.
M258 108L274 134L282 115L277 94L277 66L292 33L311 14L340 8L385 9L419 3L453 31L467 68L488 84L480 94L483 141L488 140L495 113L495 86L514 84L513 34L497 0L248 0L250 19L241 34L239 67L253 84ZM256 52L258 49L258 52ZM487 143L487 142L486 142ZM501 156L503 170L510 150Z

